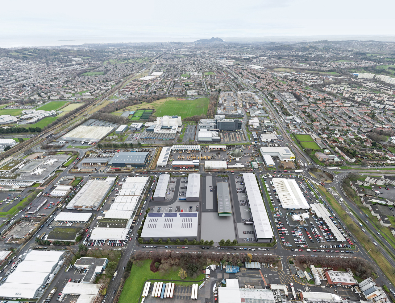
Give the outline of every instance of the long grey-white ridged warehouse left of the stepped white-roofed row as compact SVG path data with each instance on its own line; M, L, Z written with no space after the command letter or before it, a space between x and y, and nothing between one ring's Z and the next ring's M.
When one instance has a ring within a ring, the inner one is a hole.
M67 204L67 209L96 210L102 203L104 197L113 187L115 178L105 180L89 180L83 188Z

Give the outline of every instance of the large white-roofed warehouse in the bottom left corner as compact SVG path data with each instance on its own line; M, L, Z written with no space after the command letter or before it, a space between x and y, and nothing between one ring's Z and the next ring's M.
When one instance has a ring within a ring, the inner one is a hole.
M62 267L64 255L64 251L30 250L6 276L6 281L0 286L0 296L15 299L40 297L43 285L48 285Z

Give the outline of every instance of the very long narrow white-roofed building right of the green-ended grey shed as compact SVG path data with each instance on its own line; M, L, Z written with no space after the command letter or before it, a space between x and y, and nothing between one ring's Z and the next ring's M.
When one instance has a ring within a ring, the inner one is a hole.
M274 234L267 215L265 204L258 187L256 177L251 173L243 173L248 202L250 204L251 216L254 222L256 241L271 242Z

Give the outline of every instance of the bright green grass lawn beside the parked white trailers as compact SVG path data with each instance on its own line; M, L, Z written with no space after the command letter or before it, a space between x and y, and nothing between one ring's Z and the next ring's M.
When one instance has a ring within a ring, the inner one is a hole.
M148 279L181 280L180 277L177 275L179 268L177 268L176 271L170 269L170 271L167 274L162 276L159 273L159 271L156 273L150 271L150 267L149 267L150 264L151 264L151 260L144 260L141 266L137 266L136 264L133 264L132 270L130 271L130 277L125 281L122 294L119 298L119 303L139 302L139 297L141 291L144 288L144 283ZM203 278L204 278L204 274L200 274L195 279L190 279L189 277L187 277L186 280L199 281ZM151 281L151 284L153 282L155 281ZM202 282L199 282L198 284L201 284ZM192 285L192 282L175 282L175 284L182 286L190 286Z

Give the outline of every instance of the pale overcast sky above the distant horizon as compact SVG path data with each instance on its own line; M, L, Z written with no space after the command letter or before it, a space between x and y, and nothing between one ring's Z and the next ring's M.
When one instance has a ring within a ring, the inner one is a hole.
M394 36L394 14L384 13L394 10L393 0L7 1L0 47L213 36Z

